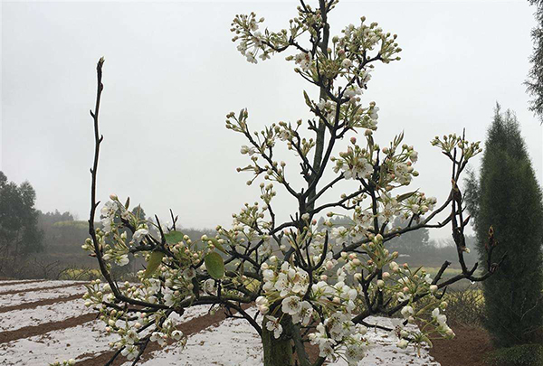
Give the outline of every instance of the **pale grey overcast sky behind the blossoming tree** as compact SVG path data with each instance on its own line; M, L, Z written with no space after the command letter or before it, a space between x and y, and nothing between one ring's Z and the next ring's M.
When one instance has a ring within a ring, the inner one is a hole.
M33 184L38 209L87 219L88 111L95 64L104 56L100 199L129 195L161 217L172 208L186 227L229 225L231 213L255 201L259 189L245 185L249 174L235 172L247 164L239 154L245 141L224 127L224 116L248 108L252 129L260 129L310 117L302 90L316 95L285 54L246 62L231 42L230 23L235 14L254 11L279 30L297 5L4 2L0 170L11 181ZM528 111L522 85L533 12L525 0L342 1L330 15L332 33L366 15L398 34L402 61L377 67L364 98L381 109L381 145L404 130L405 142L419 151L413 187L443 202L450 166L429 141L463 127L470 139L483 140L496 101L517 113L541 182L542 127ZM286 218L296 204L278 191L275 210ZM447 235L441 230L433 237Z

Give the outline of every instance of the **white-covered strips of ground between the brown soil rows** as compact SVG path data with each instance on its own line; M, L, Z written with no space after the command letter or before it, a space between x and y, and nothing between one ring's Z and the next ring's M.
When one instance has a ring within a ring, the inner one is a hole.
M33 289L35 291L21 294L0 296L0 306L20 305L43 299L54 299L63 296L83 294L84 286L69 286L65 288L47 289L46 287L69 284L66 281L42 281L33 284L10 285L0 283L0 292L17 289ZM5 288L10 288L5 290ZM26 326L61 322L65 319L88 314L92 309L83 305L82 299L59 302L53 305L36 306L32 309L14 310L0 314L0 333L14 331ZM187 309L182 318L176 316L176 321L189 320L205 316L209 306L195 306ZM250 312L254 310L251 309ZM391 326L390 320L374 317L367 320L369 324L378 323ZM100 321L90 321L85 324L71 326L41 335L30 336L0 343L0 366L46 366L53 361L70 358L77 361L89 360L96 355L110 351L109 343L117 340L118 335L106 335L104 324ZM374 346L368 351L367 357L360 366L439 366L433 361L427 350L417 357L413 349L400 350L395 346L395 337L385 331L371 330L367 337ZM226 319L217 326L210 326L204 331L191 334L186 348L181 349L172 344L151 352L144 366L261 366L262 344L258 333L243 319ZM131 362L123 366L129 366ZM347 366L344 360L329 363L329 366Z

